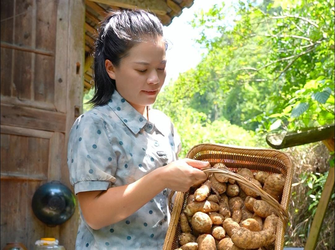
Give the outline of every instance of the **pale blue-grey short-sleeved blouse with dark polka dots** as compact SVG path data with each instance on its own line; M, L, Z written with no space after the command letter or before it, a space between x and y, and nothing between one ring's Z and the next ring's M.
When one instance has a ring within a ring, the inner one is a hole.
M67 159L76 194L133 183L177 160L181 142L170 119L155 109L149 109L149 119L117 91L108 104L77 118L70 132ZM162 249L168 193L163 190L125 220L99 230L82 219L76 249Z

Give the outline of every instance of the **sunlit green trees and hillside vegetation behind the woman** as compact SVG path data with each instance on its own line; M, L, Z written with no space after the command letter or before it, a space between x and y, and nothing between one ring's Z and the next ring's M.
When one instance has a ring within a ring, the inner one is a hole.
M268 147L269 132L334 124L334 11L334 0L264 0L197 13L190 26L208 54L154 104L181 135L181 157L204 142ZM334 157L320 143L286 152L295 167L286 245L303 247ZM333 242L334 193L317 249Z

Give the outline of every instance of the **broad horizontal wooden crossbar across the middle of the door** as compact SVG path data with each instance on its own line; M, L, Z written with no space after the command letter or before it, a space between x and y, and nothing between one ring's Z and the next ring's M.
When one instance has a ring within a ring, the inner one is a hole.
M1 124L65 132L64 113L1 103Z

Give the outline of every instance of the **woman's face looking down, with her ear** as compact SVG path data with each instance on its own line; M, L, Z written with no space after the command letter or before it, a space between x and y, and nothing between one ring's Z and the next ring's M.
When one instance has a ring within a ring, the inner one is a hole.
M115 79L116 90L137 111L153 104L164 84L165 42L162 38L139 42L132 47L117 67L108 66L109 76Z

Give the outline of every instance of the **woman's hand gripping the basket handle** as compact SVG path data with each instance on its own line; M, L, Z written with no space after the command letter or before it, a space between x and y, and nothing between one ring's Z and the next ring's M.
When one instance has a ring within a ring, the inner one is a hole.
M208 178L200 169L209 167L209 162L185 158L157 170L161 171L161 180L166 188L187 192L194 183L205 181Z

